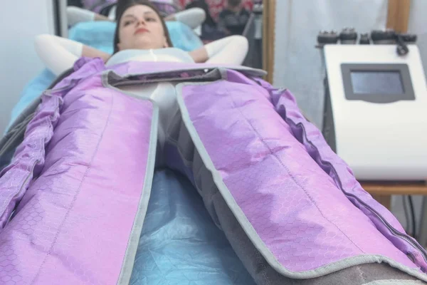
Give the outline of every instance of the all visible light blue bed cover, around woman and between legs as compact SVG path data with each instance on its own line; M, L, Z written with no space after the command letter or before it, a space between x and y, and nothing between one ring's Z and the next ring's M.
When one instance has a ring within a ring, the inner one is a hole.
M184 24L167 26L174 46L191 51L202 45ZM81 23L70 29L69 38L112 53L114 29L110 22ZM9 125L55 78L45 69L28 83ZM171 170L156 170L131 284L255 283L191 182Z

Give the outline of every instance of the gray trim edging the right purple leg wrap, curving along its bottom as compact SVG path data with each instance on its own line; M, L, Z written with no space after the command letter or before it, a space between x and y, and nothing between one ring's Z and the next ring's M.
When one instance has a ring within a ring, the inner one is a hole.
M239 207L238 204L236 203L236 200L233 198L233 195L231 195L231 192L228 190L228 187L223 182L220 172L216 170L214 166L214 162L212 162L211 157L209 156L208 152L206 151L206 148L204 147L203 142L201 141L201 138L199 138L199 135L197 134L196 128L194 128L194 125L191 122L189 112L184 103L184 98L182 97L182 88L184 88L185 86L201 86L201 85L209 85L209 84L211 84L211 82L179 83L176 85L176 100L178 102L179 110L181 111L181 117L182 117L183 123L189 132L191 140L194 142L194 147L196 147L196 150L199 152L199 155L201 156L201 160L203 160L206 168L209 171L211 171L212 177L214 178L214 183L218 187L218 190L223 196L223 199L228 204L228 207L230 207L231 212L233 212L234 216L238 220L238 223L241 224L241 227L243 228L244 232L246 232L249 239L251 239L255 248L258 249L260 254L263 255L265 260L268 262L268 264L270 264L270 266L273 267L273 269L278 271L280 274L283 274L284 276L288 276L290 278L311 279L311 278L323 276L325 274L330 274L335 271L346 269L351 266L357 266L360 264L367 264L367 263L386 262L387 264L389 264L390 266L396 269L404 271L423 281L427 281L427 274L423 274L417 269L412 269L408 266L404 266L403 264L400 264L399 262L396 262L393 259L390 259L389 257L384 257L383 255L379 255L379 254L361 254L361 255L358 255L357 257L349 257L347 259L342 259L340 261L336 261L331 264L321 266L317 269L312 269L307 271L298 271L298 272L290 271L289 269L286 269L282 264L280 264L280 262L275 258L273 253L270 252L270 249L268 249L268 247L264 244L263 240L259 237L258 233L253 228L251 222L248 221L241 207Z

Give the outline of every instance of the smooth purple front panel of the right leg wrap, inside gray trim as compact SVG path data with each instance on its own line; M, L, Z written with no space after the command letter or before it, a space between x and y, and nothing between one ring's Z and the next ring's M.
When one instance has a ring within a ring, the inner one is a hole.
M182 94L233 199L286 269L316 269L360 254L416 267L312 160L263 92L218 81L185 86Z

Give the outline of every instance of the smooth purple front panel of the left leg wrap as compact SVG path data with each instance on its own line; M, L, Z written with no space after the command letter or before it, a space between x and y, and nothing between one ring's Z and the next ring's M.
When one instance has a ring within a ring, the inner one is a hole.
M117 283L151 123L147 100L105 88L65 95L45 167L0 234L0 281Z

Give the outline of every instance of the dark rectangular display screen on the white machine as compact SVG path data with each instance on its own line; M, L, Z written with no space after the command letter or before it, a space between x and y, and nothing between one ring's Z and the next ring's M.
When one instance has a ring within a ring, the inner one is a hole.
M399 71L351 71L355 94L402 94L404 84Z

